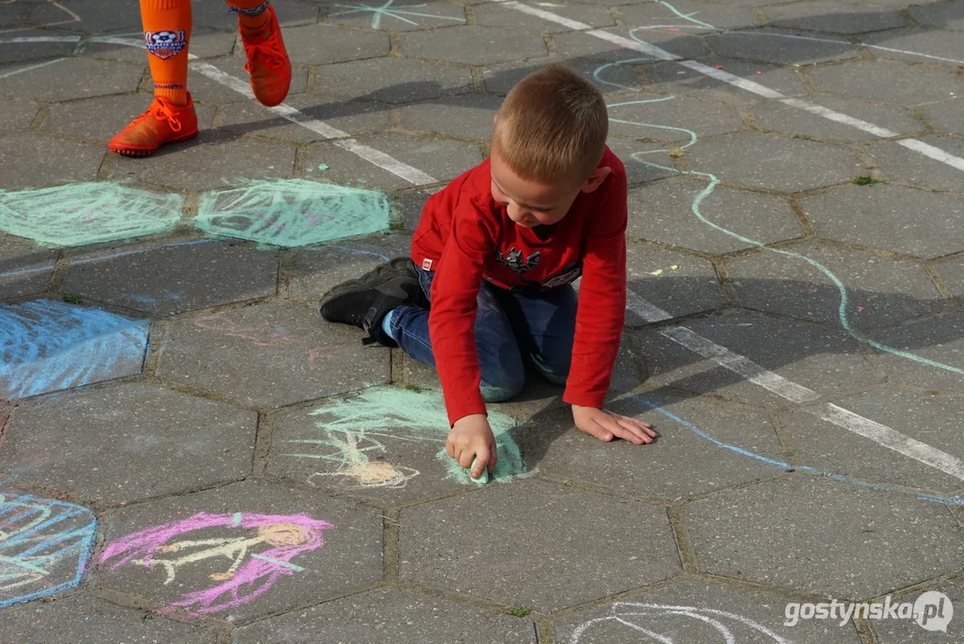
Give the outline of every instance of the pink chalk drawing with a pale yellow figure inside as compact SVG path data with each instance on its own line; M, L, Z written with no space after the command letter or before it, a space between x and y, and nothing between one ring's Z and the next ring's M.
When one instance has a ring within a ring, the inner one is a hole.
M230 533L214 538L173 540L210 528L225 528ZM188 519L146 528L118 539L107 546L100 563L113 560L109 568L112 571L125 564L149 570L161 568L166 574L164 585L170 585L184 566L205 559L227 558L231 562L227 570L208 575L210 580L221 583L184 593L180 601L159 611L211 614L251 602L270 590L281 576L304 572L305 568L291 560L321 548L323 530L329 528L334 526L304 514L199 512Z

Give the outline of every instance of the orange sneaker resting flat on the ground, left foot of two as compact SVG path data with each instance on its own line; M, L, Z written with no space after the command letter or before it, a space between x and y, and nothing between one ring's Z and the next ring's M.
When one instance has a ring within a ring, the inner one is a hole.
M155 96L147 112L120 130L107 147L132 157L144 157L163 145L188 141L198 136L198 115L194 111L191 92L187 105L174 105L163 96Z

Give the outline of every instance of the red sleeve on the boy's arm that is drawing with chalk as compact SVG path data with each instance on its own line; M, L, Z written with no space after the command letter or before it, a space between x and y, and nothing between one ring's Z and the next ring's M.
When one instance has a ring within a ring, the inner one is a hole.
M475 315L482 275L495 248L493 226L468 198L460 200L432 282L429 337L449 425L486 413L479 391Z

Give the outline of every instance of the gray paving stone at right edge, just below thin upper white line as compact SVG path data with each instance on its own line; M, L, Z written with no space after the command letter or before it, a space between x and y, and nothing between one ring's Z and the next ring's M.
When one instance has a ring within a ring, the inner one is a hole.
M964 93L964 79L949 69L888 61L855 61L808 69L818 90L871 98L897 105L946 100L949 92ZM894 91L900 88L900 91Z

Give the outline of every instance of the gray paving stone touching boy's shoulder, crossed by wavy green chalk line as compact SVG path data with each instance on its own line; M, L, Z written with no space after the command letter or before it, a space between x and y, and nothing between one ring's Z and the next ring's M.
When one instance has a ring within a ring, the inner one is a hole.
M717 187L698 204L705 219L732 234L701 222L693 207L709 186L696 178L682 177L633 189L629 193L628 234L711 254L758 247L746 240L774 244L803 236L786 200L736 188Z

